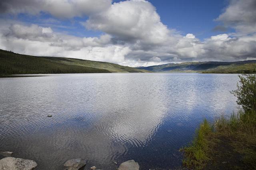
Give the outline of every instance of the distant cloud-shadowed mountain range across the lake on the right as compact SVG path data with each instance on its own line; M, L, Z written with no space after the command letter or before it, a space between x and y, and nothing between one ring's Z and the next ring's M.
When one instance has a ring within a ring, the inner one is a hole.
M256 73L256 60L235 62L184 62L136 67L153 72Z

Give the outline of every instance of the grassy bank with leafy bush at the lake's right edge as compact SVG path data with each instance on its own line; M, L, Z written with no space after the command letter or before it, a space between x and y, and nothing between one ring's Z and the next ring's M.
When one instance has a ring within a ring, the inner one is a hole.
M238 75L237 104L229 119L211 125L206 119L194 140L180 151L183 166L192 169L256 169L256 75Z

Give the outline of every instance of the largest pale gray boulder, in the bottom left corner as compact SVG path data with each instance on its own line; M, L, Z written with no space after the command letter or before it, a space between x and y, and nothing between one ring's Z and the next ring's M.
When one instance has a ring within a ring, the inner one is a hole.
M32 170L36 168L34 160L6 157L0 160L0 170Z

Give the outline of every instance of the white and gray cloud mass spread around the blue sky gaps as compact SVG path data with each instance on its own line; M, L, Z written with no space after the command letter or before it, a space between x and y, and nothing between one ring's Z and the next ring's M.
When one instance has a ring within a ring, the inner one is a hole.
M54 10L57 5L59 8ZM0 48L30 55L74 57L130 66L256 59L254 7L255 0L231 0L216 20L236 32L202 41L194 34L184 36L168 28L161 22L156 8L146 0L113 4L111 0L1 1L1 12L8 14L48 12L55 18L87 15L88 20L81 24L102 35L70 36L54 31L50 25L0 20Z

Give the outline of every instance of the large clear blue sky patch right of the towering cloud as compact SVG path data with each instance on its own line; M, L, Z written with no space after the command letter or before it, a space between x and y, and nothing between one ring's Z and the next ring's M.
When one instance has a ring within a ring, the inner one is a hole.
M150 2L156 7L164 24L181 31L184 35L192 33L202 40L226 33L213 31L213 28L219 24L214 19L218 18L228 5L226 1L150 0Z

